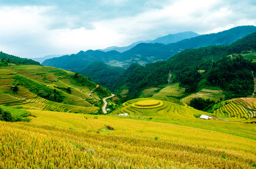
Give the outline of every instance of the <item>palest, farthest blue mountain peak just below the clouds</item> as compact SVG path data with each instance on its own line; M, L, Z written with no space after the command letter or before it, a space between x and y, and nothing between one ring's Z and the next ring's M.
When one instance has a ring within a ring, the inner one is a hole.
M118 52L125 52L127 50L130 50L131 48L133 48L134 46L138 45L139 43L163 43L165 45L167 45L168 43L175 43L178 41L181 41L183 39L187 39L187 38L193 38L193 37L197 37L199 34L195 33L195 32L182 32L182 33L176 33L176 34L168 34L164 37L159 37L156 38L155 40L151 41L138 41L138 42L134 42L129 46L125 46L125 47L117 47L117 46L112 46L112 47L107 47L103 50L100 51L104 51L104 52L108 52L108 51L118 51Z

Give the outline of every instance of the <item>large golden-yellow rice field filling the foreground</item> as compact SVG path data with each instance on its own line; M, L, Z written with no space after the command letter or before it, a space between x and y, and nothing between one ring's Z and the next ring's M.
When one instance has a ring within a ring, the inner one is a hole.
M106 115L31 113L29 123L0 121L2 168L255 168L252 124L177 120L203 123L206 130ZM221 132L226 128L231 134Z

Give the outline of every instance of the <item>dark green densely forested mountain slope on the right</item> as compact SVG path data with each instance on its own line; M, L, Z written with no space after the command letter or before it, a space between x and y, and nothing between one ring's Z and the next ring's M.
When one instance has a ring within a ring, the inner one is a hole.
M204 85L212 85L225 90L225 99L248 96L253 91L251 71L255 71L256 64L240 55L227 56L255 51L255 36L256 33L250 34L229 46L185 50L167 61L146 66L133 64L113 83L111 90L125 86L129 89L127 99L133 99L144 88L167 83L170 71L173 82L180 82L182 87L186 87L187 93L198 91ZM200 74L198 70L205 72Z

